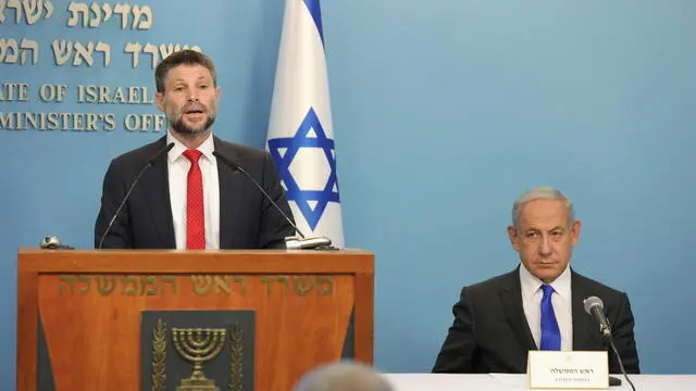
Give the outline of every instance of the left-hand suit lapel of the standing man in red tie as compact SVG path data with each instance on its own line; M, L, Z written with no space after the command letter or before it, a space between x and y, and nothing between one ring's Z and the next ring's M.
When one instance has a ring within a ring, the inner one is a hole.
M164 148L166 137L157 142L157 149ZM170 180L166 156L158 159L150 167L144 180L148 209L152 215L153 226L160 237L163 249L176 249L174 223L172 219L172 202L170 200Z

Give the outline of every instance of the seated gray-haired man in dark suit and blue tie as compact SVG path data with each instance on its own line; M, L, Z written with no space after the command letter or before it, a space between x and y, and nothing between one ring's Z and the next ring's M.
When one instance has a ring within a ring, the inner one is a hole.
M522 267L464 287L433 373L526 373L530 350L607 350L583 300L604 301L626 373L638 374L629 298L568 265L581 223L569 198L552 188L522 194L508 235ZM609 352L609 371L621 373Z

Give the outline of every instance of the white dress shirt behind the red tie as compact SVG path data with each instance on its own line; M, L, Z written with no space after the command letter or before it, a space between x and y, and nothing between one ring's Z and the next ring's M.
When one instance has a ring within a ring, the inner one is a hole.
M191 162L184 156L187 148L174 138L171 131L166 134L166 143L174 142L174 148L167 154L170 179L170 201L174 223L176 249L186 249L186 188L188 169ZM203 179L203 213L206 217L206 249L220 249L220 180L217 163L213 156L212 133L203 143L197 148L202 155L198 160Z

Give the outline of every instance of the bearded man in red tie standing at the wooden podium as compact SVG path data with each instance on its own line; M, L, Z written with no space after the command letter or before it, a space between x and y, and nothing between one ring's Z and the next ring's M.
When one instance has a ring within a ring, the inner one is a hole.
M220 87L212 60L175 52L159 63L154 79L166 136L111 161L95 248L285 248L295 231L270 154L213 136Z

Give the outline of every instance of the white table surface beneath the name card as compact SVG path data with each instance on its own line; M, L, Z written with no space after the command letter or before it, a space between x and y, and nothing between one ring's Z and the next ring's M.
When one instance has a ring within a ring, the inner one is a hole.
M529 390L526 375L448 375L448 374L385 374L396 391L513 391ZM610 391L631 391L623 376L621 386ZM696 391L696 375L629 375L636 391ZM564 389L568 391L568 389Z

